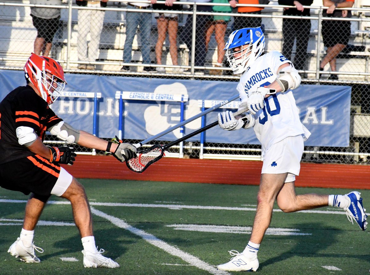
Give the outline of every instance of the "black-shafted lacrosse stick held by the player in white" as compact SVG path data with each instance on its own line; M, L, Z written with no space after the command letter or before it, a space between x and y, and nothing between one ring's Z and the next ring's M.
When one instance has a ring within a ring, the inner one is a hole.
M244 112L248 111L248 107L235 112L234 116L240 115ZM148 149L144 150L138 150L137 151L137 157L134 157L132 159L129 159L126 161L127 167L137 173L142 173L147 169L151 164L157 162L160 160L166 153L166 149L168 149L171 146L174 146L188 138L191 138L195 135L198 135L201 132L204 132L205 130L208 130L214 126L218 125L218 121L215 121L207 126L204 126L201 129L198 129L186 136L183 136L182 138L179 138L178 140L175 140L171 143L168 143L167 145L153 145L149 147ZM135 145L137 146L137 145Z

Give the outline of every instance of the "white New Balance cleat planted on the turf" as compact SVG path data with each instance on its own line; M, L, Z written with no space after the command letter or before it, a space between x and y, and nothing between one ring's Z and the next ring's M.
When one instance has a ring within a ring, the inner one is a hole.
M258 269L259 262L256 257L254 260L246 258L243 254L240 254L236 250L229 251L230 255L233 256L226 264L218 265L218 270L223 271L251 271L255 272Z

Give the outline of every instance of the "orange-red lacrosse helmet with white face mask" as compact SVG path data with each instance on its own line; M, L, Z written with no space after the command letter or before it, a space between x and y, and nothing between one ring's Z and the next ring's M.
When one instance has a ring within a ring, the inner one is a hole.
M41 97L50 105L67 84L64 72L59 62L53 58L32 53L24 65L25 77L40 92ZM51 76L46 73L51 74ZM32 75L36 78L34 81Z

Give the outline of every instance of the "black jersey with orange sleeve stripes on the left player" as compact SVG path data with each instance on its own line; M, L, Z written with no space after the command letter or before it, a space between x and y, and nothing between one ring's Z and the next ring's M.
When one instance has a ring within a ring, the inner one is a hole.
M46 129L61 121L30 86L11 91L0 102L0 164L35 155L18 143L17 127L31 127L44 140Z

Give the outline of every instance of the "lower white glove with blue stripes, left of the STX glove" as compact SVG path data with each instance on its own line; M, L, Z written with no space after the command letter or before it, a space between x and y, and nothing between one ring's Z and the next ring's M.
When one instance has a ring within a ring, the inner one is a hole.
M254 123L255 119L250 113L248 115L243 113L239 119L236 119L231 111L218 113L218 125L224 130L239 130L242 127L245 128L245 126L248 126L245 129L249 129L253 127Z

